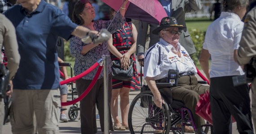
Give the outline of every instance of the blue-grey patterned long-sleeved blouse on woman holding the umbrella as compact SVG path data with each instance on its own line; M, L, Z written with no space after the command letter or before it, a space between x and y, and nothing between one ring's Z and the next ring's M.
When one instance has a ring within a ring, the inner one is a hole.
M125 18L118 12L115 15L113 20L103 21L97 20L94 21L93 27L95 30L100 31L101 29L105 28L113 34L117 29L119 29L124 24ZM73 57L75 57L75 65L74 65L74 74L79 75L82 72L86 71L89 67L91 67L94 63L97 62L98 59L102 58L102 55L110 55L110 52L107 48L107 42L103 42L102 45L94 47L93 49L89 50L88 53L82 55L80 54L83 46L88 45L81 41L80 38L73 36L70 39L70 53ZM108 69L109 73L112 72L111 66L112 62L110 57L108 58ZM83 79L86 80L93 80L94 76L96 75L97 69L91 71L88 75L85 75ZM103 78L103 70L98 79Z

